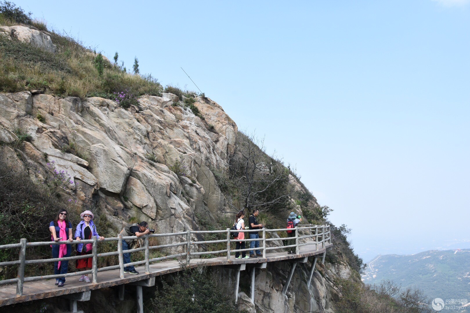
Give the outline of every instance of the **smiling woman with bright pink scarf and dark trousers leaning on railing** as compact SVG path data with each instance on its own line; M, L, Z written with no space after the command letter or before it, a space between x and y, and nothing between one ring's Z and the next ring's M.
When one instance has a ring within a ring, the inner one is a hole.
M72 238L72 223L67 220L67 210L60 210L54 221L49 224L49 230L51 231L52 241L73 241ZM70 257L72 247L70 244L53 244L52 246L52 258L66 258ZM58 261L54 262L54 274L67 274L69 270L69 261ZM55 280L55 284L58 287L63 287L65 277L61 277Z

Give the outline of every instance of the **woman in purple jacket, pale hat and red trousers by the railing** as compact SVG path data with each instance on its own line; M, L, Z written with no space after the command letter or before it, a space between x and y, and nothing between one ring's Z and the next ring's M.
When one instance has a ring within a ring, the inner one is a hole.
M91 211L86 210L85 212L80 214L80 217L83 219L83 221L80 221L77 225L77 230L75 231L75 239L78 241L81 241L82 239L84 240L91 239L92 236L100 237L98 235L98 232L96 231L96 226L94 226L94 223L93 223L93 218L94 218L93 213L91 213ZM100 239L103 240L104 237L100 237ZM92 246L93 244L78 244L77 255L91 254ZM81 271L87 271L93 267L92 263L93 263L93 258L78 259L75 264L75 268ZM81 275L78 281L90 282L90 279L88 278L88 274Z

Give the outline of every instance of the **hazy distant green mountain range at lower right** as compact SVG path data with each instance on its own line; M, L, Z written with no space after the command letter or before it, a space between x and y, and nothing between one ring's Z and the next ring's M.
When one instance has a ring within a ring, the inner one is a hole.
M362 275L367 284L389 279L405 288L415 286L431 299L470 302L470 249L378 255L367 264Z

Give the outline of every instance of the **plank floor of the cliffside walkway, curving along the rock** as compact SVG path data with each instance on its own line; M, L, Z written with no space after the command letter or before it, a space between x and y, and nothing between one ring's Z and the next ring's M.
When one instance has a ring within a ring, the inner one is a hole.
M319 244L320 245L320 244ZM287 254L287 252L271 252L266 253L266 258L250 258L243 260L235 260L232 256L230 260L227 257L218 257L211 259L191 259L190 267L201 266L216 266L228 264L253 264L265 263L282 260L294 260L314 256L326 252L326 249L333 246L333 244L326 244L325 248L315 249L315 244L307 244L299 248L299 254ZM282 247L280 247L282 249ZM23 296L16 297L16 284L6 285L0 287L0 306L10 305L14 303L26 302L36 299L51 298L62 296L70 293L80 291L95 290L106 287L118 286L121 284L141 281L150 277L169 274L180 271L181 267L177 260L163 261L155 264L150 264L150 273L145 274L144 267L136 267L139 275L125 274L124 279L119 278L119 269L98 272L97 283L78 282L79 276L67 277L64 287L58 288L55 285L55 279L25 282Z

